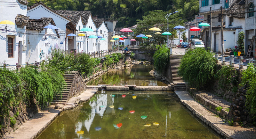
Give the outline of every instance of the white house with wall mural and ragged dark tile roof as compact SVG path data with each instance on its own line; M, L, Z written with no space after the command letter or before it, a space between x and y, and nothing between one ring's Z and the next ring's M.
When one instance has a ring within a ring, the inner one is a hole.
M56 26L52 18L29 19L26 25L26 62L42 61L51 54L52 48L59 48L58 30L45 29L48 25Z

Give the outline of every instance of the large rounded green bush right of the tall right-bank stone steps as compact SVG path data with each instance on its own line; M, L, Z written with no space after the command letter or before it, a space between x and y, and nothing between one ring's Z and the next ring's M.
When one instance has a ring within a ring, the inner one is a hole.
M215 60L213 54L204 48L190 49L181 59L179 75L193 87L204 88L213 77Z

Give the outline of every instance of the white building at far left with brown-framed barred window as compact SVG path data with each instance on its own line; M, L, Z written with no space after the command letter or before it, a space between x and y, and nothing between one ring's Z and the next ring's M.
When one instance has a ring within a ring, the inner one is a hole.
M12 4L18 6L2 6L0 10L0 21L9 20L15 25L0 24L0 63L15 65L16 63L25 64L26 57L26 24L27 4L26 0L14 0Z

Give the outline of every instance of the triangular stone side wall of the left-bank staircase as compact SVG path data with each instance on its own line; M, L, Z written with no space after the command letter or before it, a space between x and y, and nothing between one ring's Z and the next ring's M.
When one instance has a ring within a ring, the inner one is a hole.
M77 71L72 72L75 72L75 76L69 90L68 99L77 97L86 90L86 84L80 74Z

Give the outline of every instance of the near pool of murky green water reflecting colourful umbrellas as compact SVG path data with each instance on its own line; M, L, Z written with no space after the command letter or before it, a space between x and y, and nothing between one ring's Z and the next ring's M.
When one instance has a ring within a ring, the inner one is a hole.
M96 94L92 101L61 113L38 138L218 138L193 118L173 93L161 91L153 92L155 94L141 94L145 92L138 91L106 91L106 93ZM136 94L137 99L132 99L130 93ZM112 94L116 97L113 98ZM126 94L126 97L123 98L118 94ZM123 107L123 110L118 110L118 107ZM141 115L147 115L147 118L141 119ZM156 126L156 123L159 125Z

